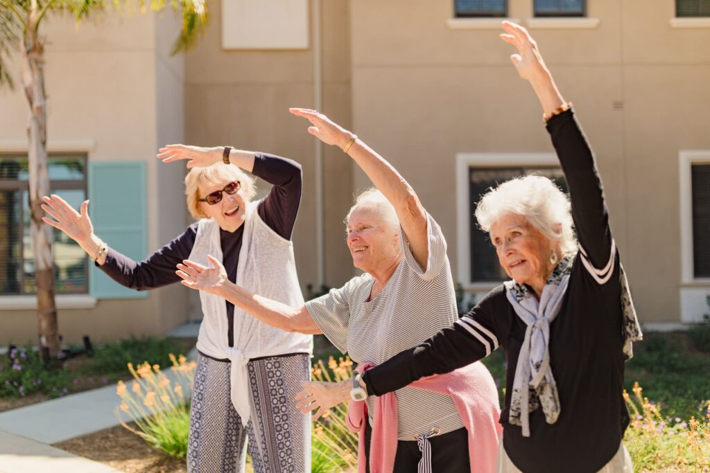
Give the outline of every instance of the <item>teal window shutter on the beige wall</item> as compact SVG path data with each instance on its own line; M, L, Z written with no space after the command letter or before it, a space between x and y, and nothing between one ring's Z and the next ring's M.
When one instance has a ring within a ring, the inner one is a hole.
M146 163L89 161L89 216L94 233L109 247L140 261L146 257ZM97 299L137 299L145 291L128 289L90 265L89 294Z

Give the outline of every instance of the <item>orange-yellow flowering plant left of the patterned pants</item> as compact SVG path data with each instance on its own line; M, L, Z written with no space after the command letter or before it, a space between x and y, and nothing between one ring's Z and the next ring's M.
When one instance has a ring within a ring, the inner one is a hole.
M128 369L133 376L131 389L119 381L116 394L121 404L116 409L121 425L169 455L187 455L187 434L190 430L190 404L185 388L192 386L195 377L194 361L185 356L170 354L170 377L159 365L144 362ZM183 388L185 386L185 388ZM134 423L135 427L129 425Z

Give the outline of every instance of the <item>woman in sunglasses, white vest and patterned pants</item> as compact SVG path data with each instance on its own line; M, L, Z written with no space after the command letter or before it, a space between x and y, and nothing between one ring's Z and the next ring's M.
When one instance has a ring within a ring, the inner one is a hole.
M94 235L85 201L77 213L45 197L45 222L77 241L119 284L154 289L180 281L182 260L222 262L226 277L284 304L303 304L291 233L301 196L301 168L283 157L226 148L169 145L163 162L188 160L187 207L197 220L146 260L136 262ZM273 184L265 199L253 173ZM246 316L229 301L200 294L204 318L190 406L187 469L242 472L246 438L255 472L310 471L310 420L291 403L309 379L312 337Z

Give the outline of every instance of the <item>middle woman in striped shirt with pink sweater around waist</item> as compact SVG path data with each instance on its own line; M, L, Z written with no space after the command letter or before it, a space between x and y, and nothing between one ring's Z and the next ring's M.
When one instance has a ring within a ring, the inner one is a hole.
M324 143L339 146L378 189L361 194L346 218L353 265L364 274L298 306L230 282L218 260L211 267L187 261L178 265L179 274L186 286L224 297L263 323L324 333L363 370L457 320L446 240L414 189L383 157L322 113L292 113L310 121L309 132ZM318 418L355 401L349 423L361 435L361 472L492 472L500 432L493 377L476 363L449 378L402 386L386 403L367 397L351 380L306 383L297 406L317 411Z

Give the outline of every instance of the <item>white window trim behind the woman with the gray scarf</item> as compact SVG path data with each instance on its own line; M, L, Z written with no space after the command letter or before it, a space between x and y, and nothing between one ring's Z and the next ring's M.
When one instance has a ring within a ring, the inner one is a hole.
M470 167L537 167L559 165L554 152L459 152L456 155L457 277L466 291L489 291L500 282L471 282L469 223Z

